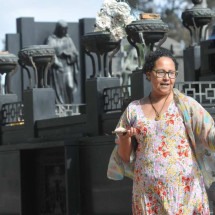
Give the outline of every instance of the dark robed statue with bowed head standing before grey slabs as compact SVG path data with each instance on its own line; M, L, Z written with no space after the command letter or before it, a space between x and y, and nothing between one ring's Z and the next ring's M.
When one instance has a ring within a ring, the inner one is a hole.
M49 83L56 93L56 103L71 104L77 90L78 51L67 33L68 24L60 20L47 44L55 49L55 59L49 73Z

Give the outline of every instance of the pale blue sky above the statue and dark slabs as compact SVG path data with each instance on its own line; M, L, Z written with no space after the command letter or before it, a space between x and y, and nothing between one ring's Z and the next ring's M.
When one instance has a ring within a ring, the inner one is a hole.
M103 0L6 0L0 4L0 51L5 34L16 33L16 19L33 17L35 22L78 22L95 18Z

